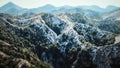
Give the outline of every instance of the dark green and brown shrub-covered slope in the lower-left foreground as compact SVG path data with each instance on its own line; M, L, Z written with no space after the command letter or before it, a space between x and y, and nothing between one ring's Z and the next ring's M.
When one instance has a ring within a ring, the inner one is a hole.
M39 60L36 53L34 53L35 45L31 44L30 38L25 37L25 34L21 29L14 28L8 25L7 22L0 23L0 52L7 55L0 58L0 68L15 68L20 62L26 62L23 67L30 64L31 67L29 68L50 68L49 64ZM17 63L13 61L14 59L22 60Z

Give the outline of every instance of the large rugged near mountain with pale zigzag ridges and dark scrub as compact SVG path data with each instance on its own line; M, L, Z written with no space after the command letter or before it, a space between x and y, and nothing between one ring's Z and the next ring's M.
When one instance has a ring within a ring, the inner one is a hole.
M0 67L105 68L119 65L115 63L119 62L116 59L120 53L119 43L114 44L115 35L90 25L81 15L40 13L21 19L0 14L0 62L4 61Z

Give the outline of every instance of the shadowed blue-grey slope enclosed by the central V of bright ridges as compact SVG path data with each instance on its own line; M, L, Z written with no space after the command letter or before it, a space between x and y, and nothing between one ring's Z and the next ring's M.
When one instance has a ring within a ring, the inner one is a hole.
M65 27L67 27L67 24L64 21L54 15L43 14L42 18L46 25L48 25L57 35L61 34Z

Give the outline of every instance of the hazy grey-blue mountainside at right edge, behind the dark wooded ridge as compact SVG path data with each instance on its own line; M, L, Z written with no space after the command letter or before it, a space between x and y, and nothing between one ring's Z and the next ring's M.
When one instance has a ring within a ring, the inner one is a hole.
M120 9L104 14L96 24L102 30L120 34Z

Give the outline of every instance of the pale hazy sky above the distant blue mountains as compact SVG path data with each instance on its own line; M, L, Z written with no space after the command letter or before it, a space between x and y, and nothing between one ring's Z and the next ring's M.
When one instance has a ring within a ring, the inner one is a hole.
M0 0L0 6L10 1L25 8L39 7L46 4L54 6L98 5L103 8L108 5L115 5L120 7L120 0Z

